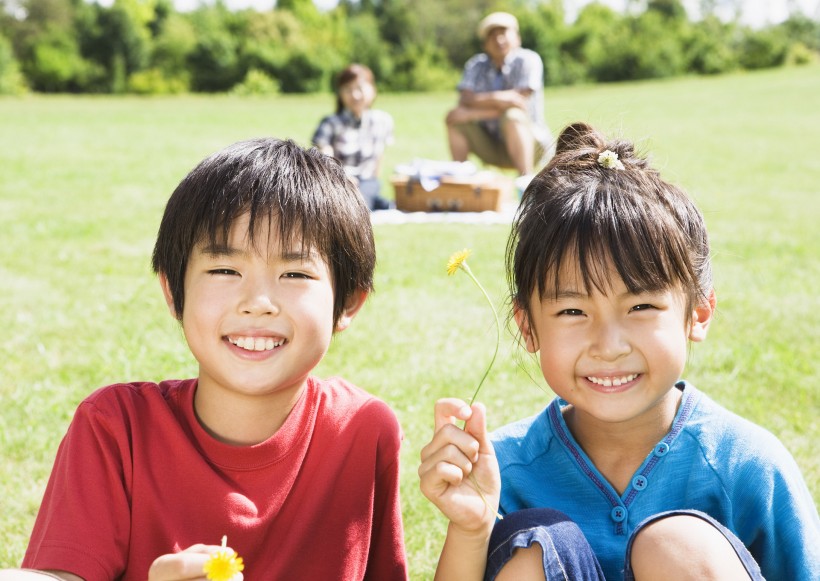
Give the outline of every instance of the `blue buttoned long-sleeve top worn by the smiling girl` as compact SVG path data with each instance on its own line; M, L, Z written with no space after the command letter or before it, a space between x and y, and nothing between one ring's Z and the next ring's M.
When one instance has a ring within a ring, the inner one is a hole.
M610 581L623 579L634 528L671 509L698 509L723 523L768 581L820 579L820 520L791 454L771 433L694 386L676 387L683 397L672 428L622 495L573 438L561 399L494 432L501 513L533 507L566 513L581 527Z

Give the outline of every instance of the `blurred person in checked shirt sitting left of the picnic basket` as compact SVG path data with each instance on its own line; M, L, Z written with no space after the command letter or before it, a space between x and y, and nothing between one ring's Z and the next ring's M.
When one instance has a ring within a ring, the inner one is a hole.
M348 66L336 79L336 113L322 119L312 141L342 163L371 210L385 210L390 202L379 195L379 164L393 142L393 118L370 108L375 98L373 71Z

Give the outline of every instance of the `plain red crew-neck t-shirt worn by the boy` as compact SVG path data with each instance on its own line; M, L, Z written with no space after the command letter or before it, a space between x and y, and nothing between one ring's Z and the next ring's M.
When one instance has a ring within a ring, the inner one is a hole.
M407 578L401 430L387 405L310 378L255 446L208 435L196 380L118 384L80 404L23 567L145 581L158 556L223 535L245 579Z

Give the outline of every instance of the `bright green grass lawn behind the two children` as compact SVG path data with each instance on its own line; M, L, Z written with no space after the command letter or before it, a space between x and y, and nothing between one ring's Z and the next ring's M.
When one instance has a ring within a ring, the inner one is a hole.
M712 235L718 317L686 377L783 440L820 499L820 69L548 90L554 130L586 120L637 141L686 188ZM381 95L396 143L383 177L446 159L451 92ZM211 152L275 135L307 144L330 95L0 99L0 567L19 563L77 403L120 380L195 373L149 257L165 201ZM385 399L405 432L402 496L413 579L445 522L418 490L419 450L445 395L468 397L492 351L492 316L450 253L504 308L506 226L379 225L377 291L320 375ZM491 427L549 400L507 334L481 399Z

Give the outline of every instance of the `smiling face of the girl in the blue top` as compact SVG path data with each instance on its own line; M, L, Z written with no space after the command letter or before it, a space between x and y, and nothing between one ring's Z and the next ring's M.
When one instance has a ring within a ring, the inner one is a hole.
M557 298L536 290L531 320L517 311L516 321L527 349L540 351L547 383L577 419L627 426L658 412L683 372L688 340L706 337L713 305L687 313L682 290L632 294L609 266L607 294L587 294L576 266L565 267Z

